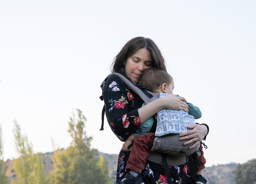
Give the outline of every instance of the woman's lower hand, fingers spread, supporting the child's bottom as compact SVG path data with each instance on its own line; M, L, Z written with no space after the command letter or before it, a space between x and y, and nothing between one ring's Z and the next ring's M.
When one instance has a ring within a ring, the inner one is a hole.
M205 125L199 125L199 124L190 125L190 126L187 126L187 128L191 130L180 134L180 140L189 140L187 142L184 142L184 145L188 145L194 142L194 144L191 147L189 147L189 149L192 149L196 145L200 144L200 142L207 135L208 130Z

